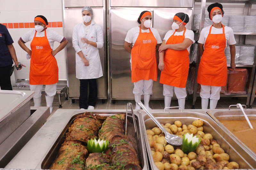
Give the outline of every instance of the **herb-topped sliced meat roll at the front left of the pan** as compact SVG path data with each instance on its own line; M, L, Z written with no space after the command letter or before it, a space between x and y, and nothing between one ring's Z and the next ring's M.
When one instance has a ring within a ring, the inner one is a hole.
M87 149L78 141L65 141L50 169L85 169Z

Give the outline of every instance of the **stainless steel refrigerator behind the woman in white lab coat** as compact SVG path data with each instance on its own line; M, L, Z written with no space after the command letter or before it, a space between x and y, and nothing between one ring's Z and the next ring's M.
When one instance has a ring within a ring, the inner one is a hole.
M99 49L103 77L97 79L98 99L107 99L108 76L107 76L107 34L106 34L106 2L105 0L63 0L64 13L64 35L69 41L67 45L67 79L69 87L69 97L79 99L79 79L76 78L75 50L72 47L72 33L76 24L83 22L82 8L90 6L93 9L93 20L100 25L104 33L104 46Z

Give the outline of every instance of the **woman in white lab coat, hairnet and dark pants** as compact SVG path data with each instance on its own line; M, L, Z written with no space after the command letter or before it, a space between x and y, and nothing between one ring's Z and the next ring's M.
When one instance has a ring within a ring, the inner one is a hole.
M97 100L97 81L103 76L98 48L103 47L103 30L92 20L89 6L82 9L83 22L73 30L72 43L76 51L76 78L80 80L80 109L94 109ZM89 85L89 96L88 96Z

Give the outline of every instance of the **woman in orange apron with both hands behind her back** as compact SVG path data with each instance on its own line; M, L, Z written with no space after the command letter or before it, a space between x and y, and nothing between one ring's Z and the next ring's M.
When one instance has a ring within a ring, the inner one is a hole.
M140 26L128 31L124 48L131 53L131 78L134 83L135 101L139 102L141 95L144 95L144 105L151 109L149 107L150 95L153 94L153 81L157 80L156 48L160 46L162 40L158 31L150 27L151 12L141 12L137 22ZM140 109L137 103L136 109Z

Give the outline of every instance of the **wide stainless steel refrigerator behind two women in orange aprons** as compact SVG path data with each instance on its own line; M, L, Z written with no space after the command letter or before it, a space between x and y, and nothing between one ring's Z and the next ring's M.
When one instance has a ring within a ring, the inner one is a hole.
M137 19L142 11L151 11L152 27L161 36L171 29L173 17L178 12L189 16L187 29L192 28L193 0L109 0L109 70L111 100L134 99L131 82L130 53L124 48L124 40L129 29L139 26ZM157 56L158 58L158 56ZM152 99L163 99L163 85L158 81L153 84Z

